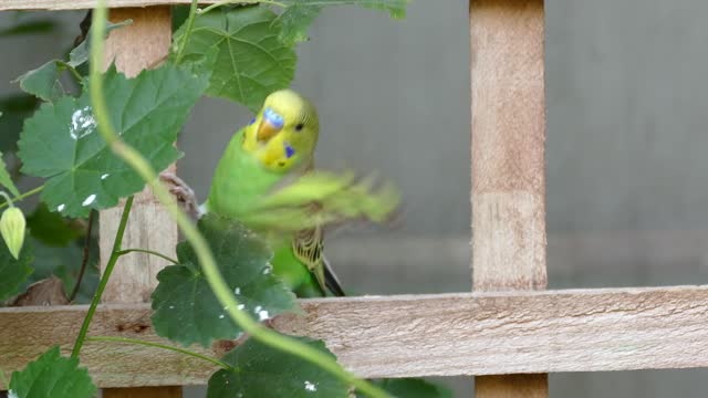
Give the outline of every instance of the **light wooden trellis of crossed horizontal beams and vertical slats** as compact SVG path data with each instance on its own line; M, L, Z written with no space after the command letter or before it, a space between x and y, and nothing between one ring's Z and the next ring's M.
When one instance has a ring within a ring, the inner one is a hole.
M134 23L111 33L106 59L128 75L154 64L170 42L167 6L188 2L110 1L112 20ZM0 0L0 11L94 6ZM543 34L543 0L470 0L475 292L305 300L306 315L281 316L278 329L323 338L362 377L476 375L485 398L545 397L550 371L708 366L708 286L532 292L546 285ZM117 213L101 214L103 253ZM177 230L144 192L125 239L126 247L168 253ZM145 304L163 265L140 254L123 259L104 296L110 304L100 306L90 333L163 342ZM0 308L3 370L24 367L55 344L70 350L85 312L81 305ZM231 347L220 342L202 352ZM179 388L166 386L205 384L215 371L132 345L87 343L81 360L110 388L104 397L179 397Z

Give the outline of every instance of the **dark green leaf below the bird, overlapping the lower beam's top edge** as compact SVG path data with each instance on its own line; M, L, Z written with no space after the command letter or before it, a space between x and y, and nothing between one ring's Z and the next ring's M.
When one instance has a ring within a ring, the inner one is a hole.
M221 275L242 305L239 310L258 321L298 310L295 296L271 272L268 261L272 253L264 242L239 222L214 214L202 217L198 227ZM185 346L199 343L208 347L215 339L238 338L241 328L211 292L191 247L179 243L177 258L179 265L157 274L159 284L153 293L155 332Z

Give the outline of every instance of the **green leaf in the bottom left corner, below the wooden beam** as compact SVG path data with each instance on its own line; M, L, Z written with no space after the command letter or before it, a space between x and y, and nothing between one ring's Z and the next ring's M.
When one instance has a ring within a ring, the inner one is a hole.
M77 358L64 358L50 348L22 371L13 371L10 396L18 398L91 398L97 392Z

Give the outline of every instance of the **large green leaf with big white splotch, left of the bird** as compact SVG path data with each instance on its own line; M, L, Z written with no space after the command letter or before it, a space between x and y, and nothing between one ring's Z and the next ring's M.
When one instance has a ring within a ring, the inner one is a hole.
M174 143L207 78L171 64L135 78L110 69L104 92L115 130L163 170L179 157ZM24 123L19 147L22 171L48 178L42 200L67 217L113 207L145 186L98 134L88 93L43 104Z

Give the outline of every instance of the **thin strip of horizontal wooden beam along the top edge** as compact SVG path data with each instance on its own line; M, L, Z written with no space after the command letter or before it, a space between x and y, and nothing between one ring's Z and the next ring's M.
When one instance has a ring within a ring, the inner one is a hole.
M107 0L111 8L178 6L190 0ZM199 4L211 4L217 0L199 0ZM243 1L243 2L248 2ZM10 10L81 10L96 7L96 0L0 0L0 11Z

